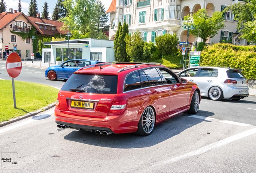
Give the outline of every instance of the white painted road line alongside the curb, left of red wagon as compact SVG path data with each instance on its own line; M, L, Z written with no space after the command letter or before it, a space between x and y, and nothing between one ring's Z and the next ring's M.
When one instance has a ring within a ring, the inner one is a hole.
M16 129L18 127L22 127L22 126L27 125L29 123L32 123L34 121L38 121L39 119L43 119L44 117L47 117L48 115L52 115L52 114L54 114L54 109L52 109L51 111L46 111L43 115L35 116L35 117L33 117L33 119L31 118L31 119L29 119L27 121L23 121L23 122L21 122L19 124L12 125L10 127L4 128L4 129L0 129L0 134L4 133L6 131L10 131L12 129Z

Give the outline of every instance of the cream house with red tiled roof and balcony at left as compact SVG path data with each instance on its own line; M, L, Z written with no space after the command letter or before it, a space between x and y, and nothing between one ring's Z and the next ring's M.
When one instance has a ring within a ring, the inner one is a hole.
M0 58L6 58L6 54L17 52L21 59L30 58L33 52L33 41L30 31L35 28L35 34L43 36L65 37L66 31L60 30L63 22L57 20L26 16L23 12L9 9L9 12L0 13ZM27 37L26 37L27 36ZM24 38L26 37L26 38ZM9 49L5 50L5 46Z

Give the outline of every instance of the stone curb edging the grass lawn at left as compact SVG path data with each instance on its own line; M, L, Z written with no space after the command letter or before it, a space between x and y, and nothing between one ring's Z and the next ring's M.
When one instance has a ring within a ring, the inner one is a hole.
M34 115L37 115L37 114L39 114L41 112L44 112L44 111L46 111L48 109L51 109L51 108L55 107L55 105L56 105L56 103L52 103L52 104L50 104L50 105L48 105L46 107L43 107L43 108L41 108L41 109L39 109L37 111L27 113L27 114L25 114L25 115L23 115L21 117L16 117L16 118L10 119L8 121L1 122L0 123L0 127L6 126L6 125L8 125L10 123L14 123L14 122L17 122L17 121L20 121L20 120L23 120L23 119L26 119L26 118L34 116Z

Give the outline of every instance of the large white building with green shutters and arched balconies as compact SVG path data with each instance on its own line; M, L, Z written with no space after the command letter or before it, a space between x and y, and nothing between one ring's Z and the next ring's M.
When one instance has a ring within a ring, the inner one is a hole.
M129 25L129 32L141 32L144 41L155 42L155 37L162 34L176 33L181 42L187 41L187 30L182 30L184 16L192 15L205 8L209 17L215 11L222 11L225 6L243 2L239 0L116 0L116 11L110 13L111 27L109 40L114 40L118 22ZM225 27L206 43L217 43L229 40L233 44L245 45L245 40L239 40L233 14L225 14ZM232 40L232 41L231 41ZM190 35L189 42L201 42L200 38Z

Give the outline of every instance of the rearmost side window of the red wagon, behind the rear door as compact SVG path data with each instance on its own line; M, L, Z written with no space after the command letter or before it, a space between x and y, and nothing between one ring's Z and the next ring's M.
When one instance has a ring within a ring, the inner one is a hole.
M124 91L130 91L138 88L141 88L139 72L129 74L125 81Z

